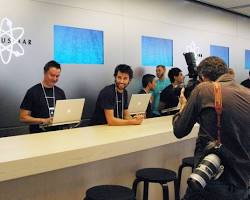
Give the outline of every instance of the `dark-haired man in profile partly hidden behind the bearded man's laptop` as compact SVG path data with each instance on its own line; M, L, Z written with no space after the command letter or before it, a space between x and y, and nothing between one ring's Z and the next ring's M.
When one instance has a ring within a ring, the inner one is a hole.
M155 75L153 74L145 74L142 77L142 87L143 89L139 92L139 94L148 94L150 91L154 90L156 86L156 81L155 81ZM148 107L146 110L146 117L147 118L152 118L152 117L157 117L158 115L155 115L152 112L152 100L149 100Z

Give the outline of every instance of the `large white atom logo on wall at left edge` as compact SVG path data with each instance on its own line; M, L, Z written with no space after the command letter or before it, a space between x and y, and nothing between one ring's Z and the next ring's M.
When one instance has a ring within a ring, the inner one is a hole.
M7 17L3 18L0 22L0 59L3 64L8 64L12 56L24 55L24 49L20 44L20 39L24 35L24 28L15 27Z

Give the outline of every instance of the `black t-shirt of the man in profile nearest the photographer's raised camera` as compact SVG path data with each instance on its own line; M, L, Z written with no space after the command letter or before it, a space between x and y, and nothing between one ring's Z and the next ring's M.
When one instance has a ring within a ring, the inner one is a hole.
M165 103L165 108L176 107L179 103L179 96L181 93L181 88L173 88L170 84L162 92L160 96L160 101Z

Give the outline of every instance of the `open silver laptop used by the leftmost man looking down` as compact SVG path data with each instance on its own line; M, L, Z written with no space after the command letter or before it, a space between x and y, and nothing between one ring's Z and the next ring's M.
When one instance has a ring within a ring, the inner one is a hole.
M57 100L53 121L49 126L79 123L81 121L84 103L84 98Z

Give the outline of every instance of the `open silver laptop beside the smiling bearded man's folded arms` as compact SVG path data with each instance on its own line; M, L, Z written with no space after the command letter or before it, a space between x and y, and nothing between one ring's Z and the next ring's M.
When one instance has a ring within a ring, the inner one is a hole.
M130 114L145 114L151 94L132 94L128 111Z

